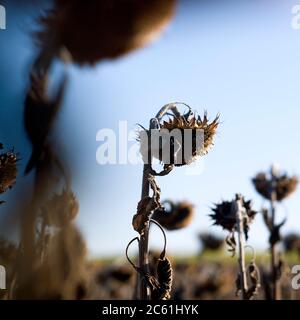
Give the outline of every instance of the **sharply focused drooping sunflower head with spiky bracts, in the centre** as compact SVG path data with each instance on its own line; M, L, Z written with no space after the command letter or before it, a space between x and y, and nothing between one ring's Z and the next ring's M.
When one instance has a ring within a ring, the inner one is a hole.
M208 153L218 125L219 115L209 122L207 112L203 118L191 110L172 115L168 121L159 123L158 128L140 133L143 160L148 163L150 153L164 165L191 164L198 156Z

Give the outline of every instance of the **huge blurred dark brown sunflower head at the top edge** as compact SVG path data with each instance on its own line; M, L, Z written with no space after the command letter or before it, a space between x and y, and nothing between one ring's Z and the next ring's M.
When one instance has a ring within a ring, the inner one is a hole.
M56 0L41 19L38 38L54 54L65 47L73 61L94 64L155 39L173 17L175 5L176 0Z

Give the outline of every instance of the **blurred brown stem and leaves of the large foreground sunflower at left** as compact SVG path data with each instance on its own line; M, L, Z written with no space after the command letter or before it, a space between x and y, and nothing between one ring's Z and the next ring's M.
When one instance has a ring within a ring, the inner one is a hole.
M24 103L24 126L32 145L25 173L33 174L34 179L32 196L21 206L10 299L80 299L85 294L85 243L73 223L79 204L62 153L53 142L67 77L64 70L50 93L52 64L53 57L46 57L40 48Z

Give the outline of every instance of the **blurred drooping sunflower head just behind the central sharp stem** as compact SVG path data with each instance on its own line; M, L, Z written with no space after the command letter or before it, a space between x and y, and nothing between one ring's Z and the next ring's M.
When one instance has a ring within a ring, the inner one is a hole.
M169 209L157 209L152 215L152 219L157 221L167 230L178 230L187 227L193 216L194 206L186 201L174 203L165 201Z

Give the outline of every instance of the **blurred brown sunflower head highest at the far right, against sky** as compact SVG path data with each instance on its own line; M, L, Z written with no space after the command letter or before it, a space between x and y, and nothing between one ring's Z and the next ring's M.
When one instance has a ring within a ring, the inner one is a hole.
M279 173L274 173L272 179L270 175L261 172L252 181L256 191L268 200L272 198L272 189L274 187L277 201L282 201L294 193L298 185L296 176L289 177L287 174L281 175Z

